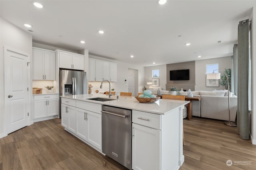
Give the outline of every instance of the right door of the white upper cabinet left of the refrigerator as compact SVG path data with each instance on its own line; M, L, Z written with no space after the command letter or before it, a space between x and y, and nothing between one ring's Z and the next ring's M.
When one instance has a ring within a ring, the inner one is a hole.
M55 80L55 53L44 51L45 80Z

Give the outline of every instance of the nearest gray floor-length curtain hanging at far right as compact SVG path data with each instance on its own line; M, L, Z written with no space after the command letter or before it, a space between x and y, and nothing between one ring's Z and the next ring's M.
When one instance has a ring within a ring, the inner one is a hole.
M240 21L238 25L238 86L237 86L237 123L238 133L242 139L249 138L248 111L248 65L249 65L249 20Z

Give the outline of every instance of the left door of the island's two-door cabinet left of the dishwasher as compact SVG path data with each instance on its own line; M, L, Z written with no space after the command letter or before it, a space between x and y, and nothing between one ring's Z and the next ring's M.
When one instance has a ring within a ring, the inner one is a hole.
M88 113L84 109L76 108L76 134L87 141Z

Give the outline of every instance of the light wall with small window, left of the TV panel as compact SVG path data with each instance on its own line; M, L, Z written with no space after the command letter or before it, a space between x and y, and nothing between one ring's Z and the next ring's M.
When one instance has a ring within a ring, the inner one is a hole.
M158 65L158 66L149 66L145 67L145 82L144 86L148 86L147 82L152 81L152 70L159 70L159 88L162 90L165 90L165 84L166 84L166 64L164 65ZM151 87L151 85L150 85Z

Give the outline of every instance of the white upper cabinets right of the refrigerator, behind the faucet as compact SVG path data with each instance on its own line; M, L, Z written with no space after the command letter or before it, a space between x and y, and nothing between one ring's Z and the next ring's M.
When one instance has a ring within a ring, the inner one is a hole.
M89 59L89 81L101 82L109 80L110 82L117 81L117 64L107 61Z

